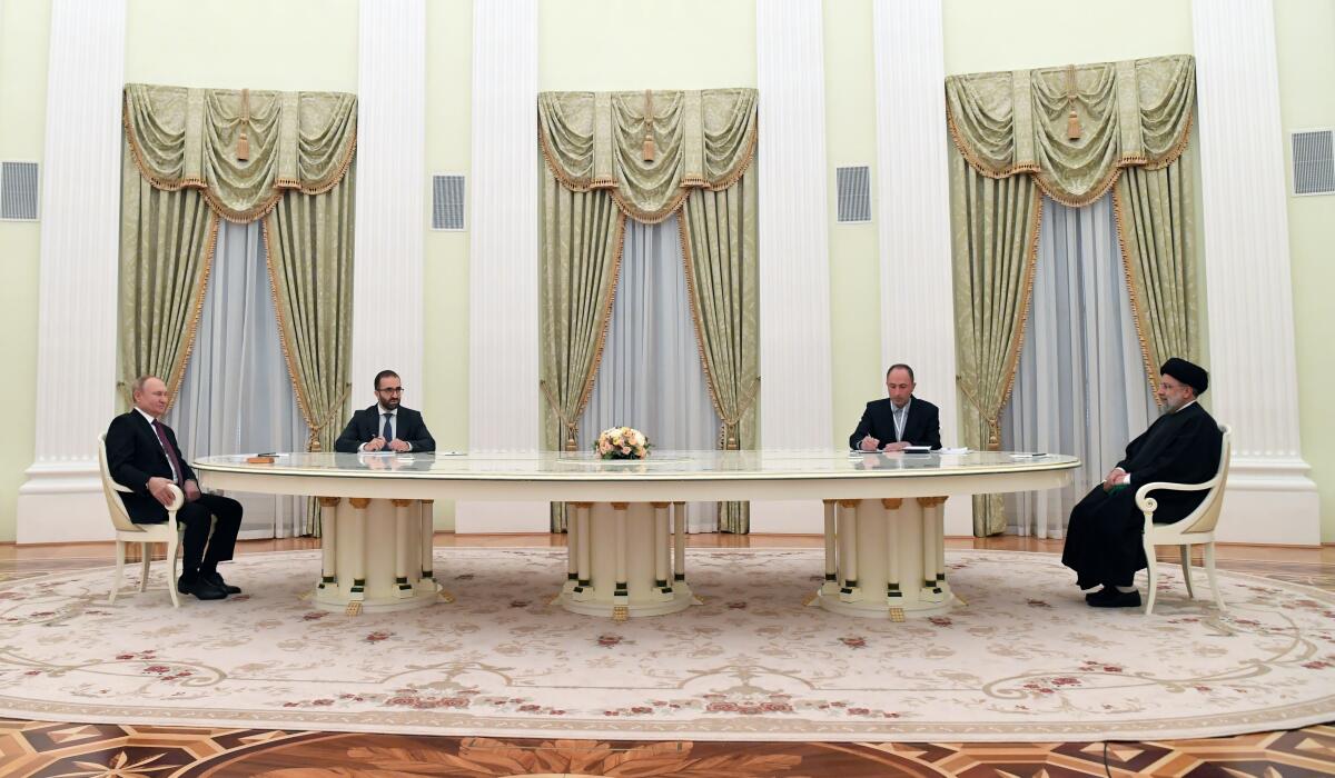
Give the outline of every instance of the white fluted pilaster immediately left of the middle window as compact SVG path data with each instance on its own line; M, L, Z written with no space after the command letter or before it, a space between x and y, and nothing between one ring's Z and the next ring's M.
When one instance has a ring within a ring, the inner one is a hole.
M469 447L535 451L538 4L473 3ZM461 503L459 531L546 531L546 503Z

